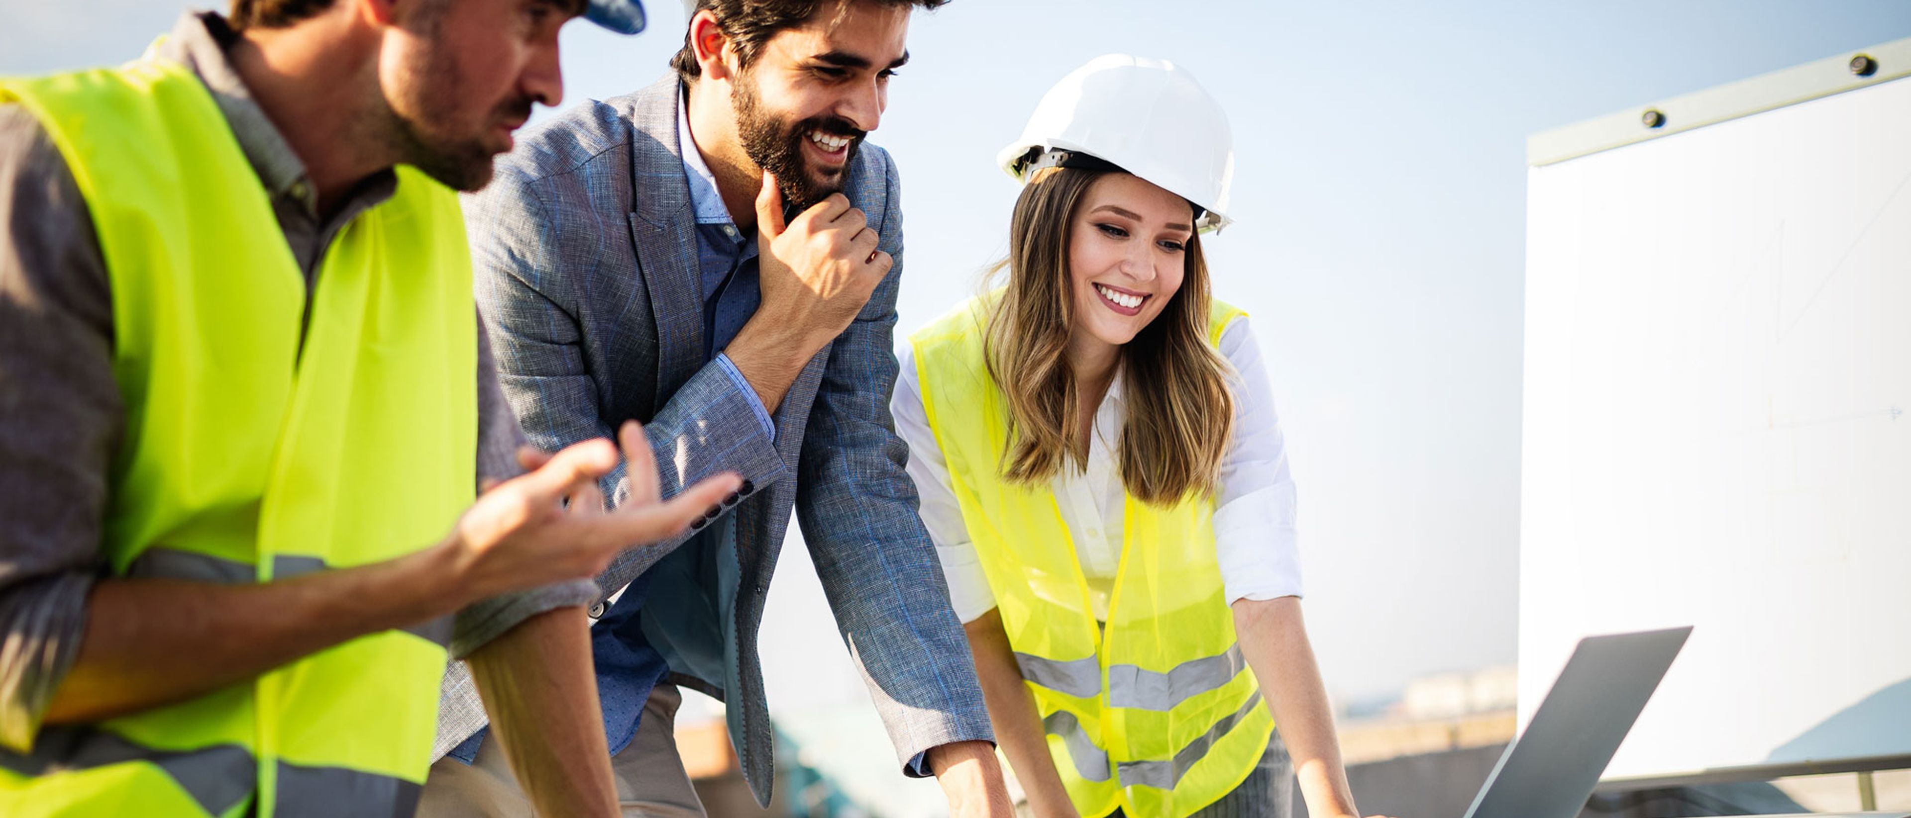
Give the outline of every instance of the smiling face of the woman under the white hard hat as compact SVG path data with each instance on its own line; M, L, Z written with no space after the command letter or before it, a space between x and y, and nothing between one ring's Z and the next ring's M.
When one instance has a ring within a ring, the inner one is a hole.
M1162 313L1181 289L1192 216L1187 199L1139 176L1089 185L1068 226L1074 344L1127 344Z

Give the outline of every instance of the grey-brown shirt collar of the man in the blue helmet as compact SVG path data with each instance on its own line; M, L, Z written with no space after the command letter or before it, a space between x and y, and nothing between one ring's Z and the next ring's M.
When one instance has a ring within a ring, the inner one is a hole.
M252 99L252 92L247 90L239 71L225 57L225 50L237 40L239 32L216 11L185 11L159 44L155 55L183 65L212 92L212 101L225 115L225 124L239 141L239 151L245 153L268 193L300 201L311 214L317 214L319 191L306 176L306 162L292 151L292 143L285 141L285 134L271 124L266 109ZM397 191L397 176L386 168L367 178L352 195L367 199L369 204L390 199L394 191Z

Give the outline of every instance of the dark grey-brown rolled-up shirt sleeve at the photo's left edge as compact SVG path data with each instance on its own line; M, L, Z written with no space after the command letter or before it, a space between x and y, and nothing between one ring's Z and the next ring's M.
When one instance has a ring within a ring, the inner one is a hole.
M0 745L27 751L86 635L124 407L92 216L19 105L0 105Z

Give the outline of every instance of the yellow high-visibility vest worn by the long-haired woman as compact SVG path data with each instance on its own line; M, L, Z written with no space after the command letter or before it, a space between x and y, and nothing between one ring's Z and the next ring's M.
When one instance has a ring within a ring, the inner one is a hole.
M910 344L929 428L1055 770L1084 816L1116 807L1131 818L1189 816L1254 772L1275 728L1235 644L1213 499L1156 508L1127 497L1108 621L1099 623L1055 493L1001 478L1009 413L982 350L994 300L969 300ZM1213 302L1208 342L1240 315Z

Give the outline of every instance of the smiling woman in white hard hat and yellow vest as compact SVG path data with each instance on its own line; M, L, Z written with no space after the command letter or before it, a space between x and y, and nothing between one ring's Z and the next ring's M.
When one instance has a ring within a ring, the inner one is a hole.
M1208 294L1227 117L1173 63L1099 57L1001 162L1005 287L910 336L894 419L1030 807L1286 816L1298 770L1309 814L1357 814L1259 348Z

